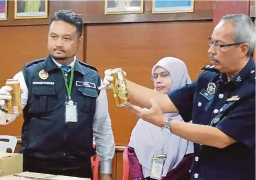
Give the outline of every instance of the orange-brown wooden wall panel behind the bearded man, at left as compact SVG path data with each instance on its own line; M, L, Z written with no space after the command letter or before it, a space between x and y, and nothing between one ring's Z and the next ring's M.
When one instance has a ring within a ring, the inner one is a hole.
M0 86L22 70L24 64L47 56L48 25L0 28ZM83 47L78 57L83 60ZM8 126L0 126L0 134L20 136L23 116Z

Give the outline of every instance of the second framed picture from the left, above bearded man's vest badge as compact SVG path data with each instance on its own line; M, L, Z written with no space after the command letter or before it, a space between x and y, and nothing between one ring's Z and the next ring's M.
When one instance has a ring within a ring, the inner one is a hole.
M48 17L48 0L15 0L15 19Z

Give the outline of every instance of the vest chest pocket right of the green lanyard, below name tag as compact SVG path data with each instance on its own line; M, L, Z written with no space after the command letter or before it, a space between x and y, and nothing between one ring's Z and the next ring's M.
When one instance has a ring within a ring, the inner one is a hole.
M80 91L81 104L78 104L78 108L83 112L93 112L96 106L96 99L98 98L97 89L90 87L77 86L77 89Z

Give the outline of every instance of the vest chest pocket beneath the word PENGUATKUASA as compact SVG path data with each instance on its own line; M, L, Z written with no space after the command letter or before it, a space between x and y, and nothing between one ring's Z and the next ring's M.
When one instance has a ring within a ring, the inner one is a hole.
M30 109L34 113L50 113L58 109L55 86L32 86Z

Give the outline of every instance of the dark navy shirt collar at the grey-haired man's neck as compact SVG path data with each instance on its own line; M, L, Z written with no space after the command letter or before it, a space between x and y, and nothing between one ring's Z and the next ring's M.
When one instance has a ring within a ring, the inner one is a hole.
M232 78L229 81L229 83L232 83L235 86L239 86L241 82L247 79L248 75L250 75L252 72L255 72L253 71L253 69L255 69L255 63L254 63L253 57L250 57L250 60L248 61L246 66L239 72L239 74L234 76L234 78ZM227 82L226 74L222 72L221 75L219 76L219 81L221 83Z

